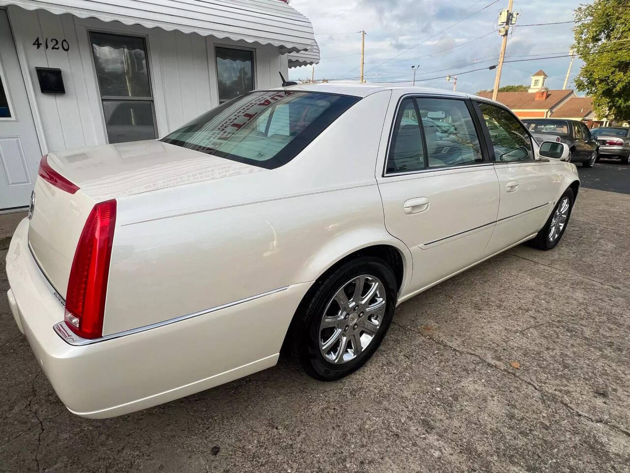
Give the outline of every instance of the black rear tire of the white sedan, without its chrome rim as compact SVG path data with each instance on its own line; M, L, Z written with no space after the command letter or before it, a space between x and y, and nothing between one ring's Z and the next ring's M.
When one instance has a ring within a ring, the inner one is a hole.
M379 329L363 351L355 358L336 365L320 351L320 323L324 311L337 291L354 277L368 274L380 279L386 293L386 308ZM362 256L338 267L316 281L295 313L287 334L287 348L295 363L321 381L334 381L350 375L369 360L381 344L396 307L396 276L386 260Z

